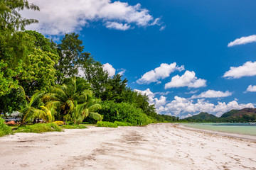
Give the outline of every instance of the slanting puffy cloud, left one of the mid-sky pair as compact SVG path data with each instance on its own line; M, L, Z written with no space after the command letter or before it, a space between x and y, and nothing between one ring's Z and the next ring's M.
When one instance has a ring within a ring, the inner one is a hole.
M184 70L184 66L178 67L176 62L172 64L163 63L160 65L160 67L146 72L142 76L142 78L138 79L136 82L137 84L150 84L152 82L157 82L159 84L161 83L159 79L165 79L166 77L169 77L170 74L175 70L181 72L182 70Z

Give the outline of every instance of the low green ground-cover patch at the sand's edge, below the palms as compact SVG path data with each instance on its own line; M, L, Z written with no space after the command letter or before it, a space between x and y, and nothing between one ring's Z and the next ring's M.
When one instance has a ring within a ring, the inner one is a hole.
M61 132L62 130L56 123L38 123L35 125L22 125L16 132Z

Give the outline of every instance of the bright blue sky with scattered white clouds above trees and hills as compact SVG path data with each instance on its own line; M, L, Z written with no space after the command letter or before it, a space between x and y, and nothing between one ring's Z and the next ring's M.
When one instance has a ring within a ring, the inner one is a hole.
M220 116L256 105L256 1L31 2L41 11L23 15L40 23L28 29L55 40L79 33L85 51L111 74L125 70L158 113Z

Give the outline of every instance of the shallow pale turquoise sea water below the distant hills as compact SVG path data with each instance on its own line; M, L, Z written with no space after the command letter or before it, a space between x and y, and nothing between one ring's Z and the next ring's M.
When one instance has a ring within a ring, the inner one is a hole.
M256 124L250 123L182 123L186 127L256 136Z

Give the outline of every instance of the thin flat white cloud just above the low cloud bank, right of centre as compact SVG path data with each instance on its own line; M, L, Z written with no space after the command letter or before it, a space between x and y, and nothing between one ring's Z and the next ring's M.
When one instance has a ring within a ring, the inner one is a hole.
M193 95L191 98L221 98L231 96L232 93L230 91L214 91L208 90L199 95Z

